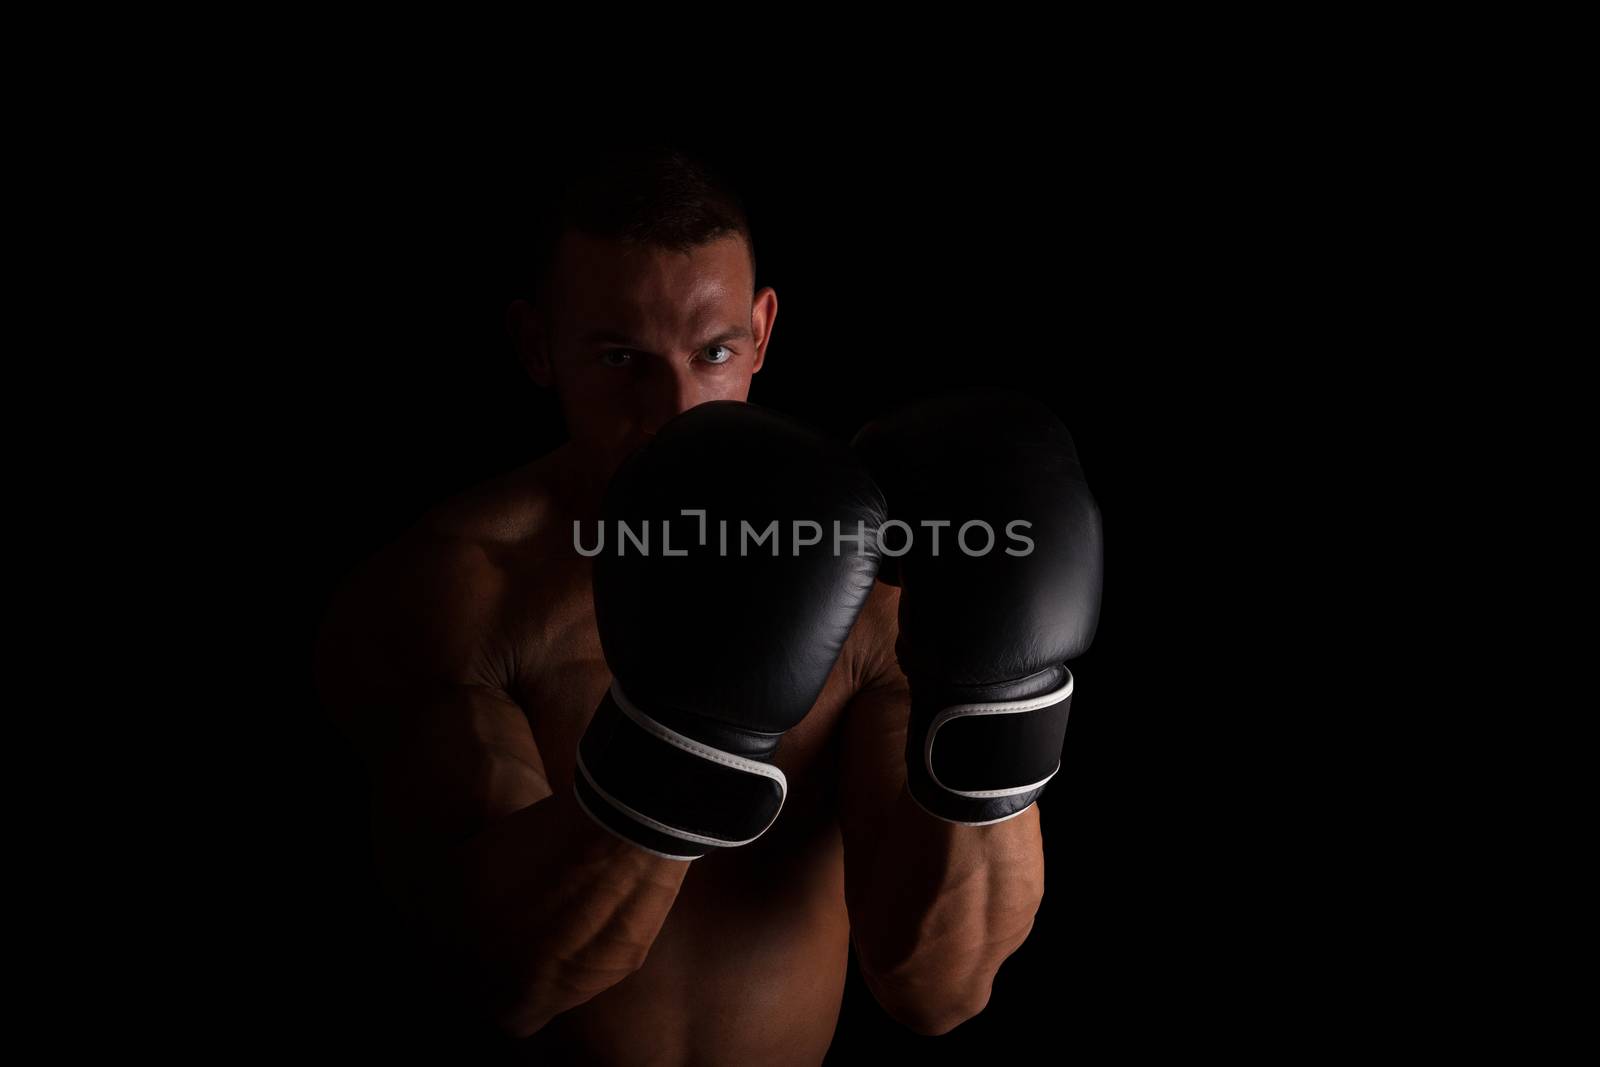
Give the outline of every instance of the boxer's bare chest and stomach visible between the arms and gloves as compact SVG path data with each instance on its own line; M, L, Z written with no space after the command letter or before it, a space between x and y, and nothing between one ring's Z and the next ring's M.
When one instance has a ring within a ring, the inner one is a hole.
M578 741L611 681L587 582L547 603L518 662L515 696L550 787L571 790ZM645 968L565 1013L546 1041L568 1043L586 1061L677 1048L667 1062L819 1062L850 944L838 833L838 725L850 697L851 670L840 657L778 747L789 792L773 827L752 845L694 861Z

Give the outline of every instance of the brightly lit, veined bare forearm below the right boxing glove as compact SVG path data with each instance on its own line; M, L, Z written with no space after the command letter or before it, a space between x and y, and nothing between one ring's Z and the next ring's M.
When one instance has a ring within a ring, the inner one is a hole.
M851 936L883 1008L942 1033L989 1001L1045 891L1038 808L994 825L934 819L902 789L848 878ZM848 875L846 875L848 877Z

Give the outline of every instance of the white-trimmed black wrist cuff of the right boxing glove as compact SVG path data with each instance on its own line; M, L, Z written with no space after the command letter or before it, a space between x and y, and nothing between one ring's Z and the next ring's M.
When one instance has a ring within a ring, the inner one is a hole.
M946 822L987 825L1032 805L1061 769L1072 672L1021 701L952 704L912 715L906 769L912 798Z

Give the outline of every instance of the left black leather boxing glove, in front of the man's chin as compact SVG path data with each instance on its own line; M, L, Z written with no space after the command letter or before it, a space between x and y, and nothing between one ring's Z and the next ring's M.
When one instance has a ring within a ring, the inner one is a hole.
M669 859L749 845L787 792L778 742L872 590L883 498L843 443L717 400L629 456L602 514L594 597L613 685L578 745L578 801Z

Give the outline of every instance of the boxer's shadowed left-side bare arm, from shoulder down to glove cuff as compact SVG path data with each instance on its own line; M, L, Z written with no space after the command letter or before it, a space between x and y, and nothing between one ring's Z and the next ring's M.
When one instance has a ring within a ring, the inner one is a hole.
M451 985L525 1037L643 965L688 864L552 793L507 694L504 587L480 545L387 550L336 598L317 681L368 761L386 888Z

